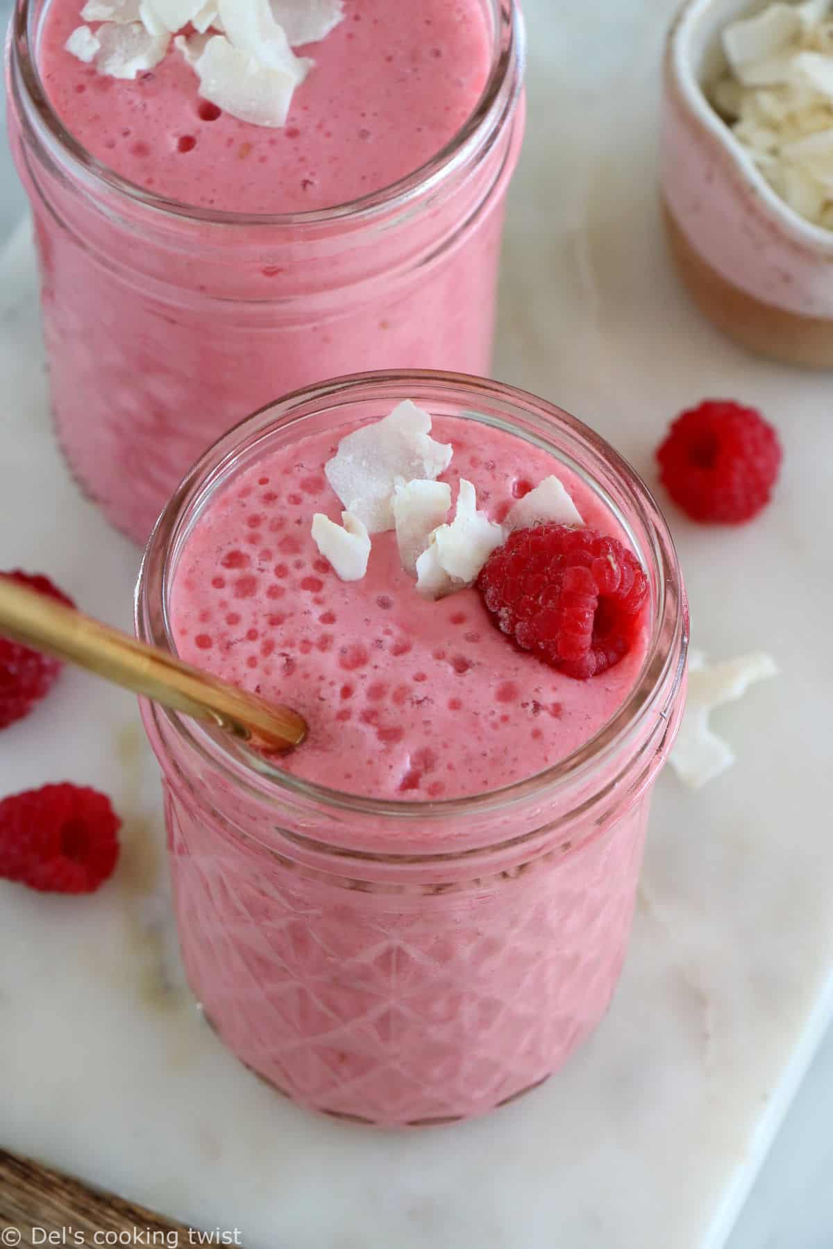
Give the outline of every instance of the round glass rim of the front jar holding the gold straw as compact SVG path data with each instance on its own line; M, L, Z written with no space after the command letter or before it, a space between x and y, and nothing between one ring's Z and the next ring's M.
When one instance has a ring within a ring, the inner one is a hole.
M219 729L197 724L179 712L156 704L149 708L152 717L165 721L200 758L221 768L235 784L242 784L261 799L313 801L330 809L341 809L351 814L430 823L461 814L491 816L525 801L555 798L567 786L581 783L591 768L623 752L629 741L639 737L652 714L666 724L673 718L674 702L683 683L686 666L688 612L673 540L648 487L601 435L562 408L518 387L463 373L433 370L353 373L293 391L234 426L194 465L156 522L136 585L137 636L176 654L167 613L167 591L181 541L194 515L200 511L200 500L205 501L209 491L221 487L227 480L242 447L251 445L252 440L260 440L270 431L303 420L305 416L312 416L316 408L332 406L333 402L346 406L358 401L387 400L392 395L398 395L400 398L407 396L430 408L432 393L435 400L442 395L445 402L460 402L468 418L481 420L481 423L502 427L510 432L518 433L518 430L512 431L508 423L511 416L507 416L507 421L501 425L498 420L481 413L478 402L482 406L505 410L515 407L518 413L537 417L545 430L555 422L562 435L567 433L576 446L609 468L617 485L623 487L628 505L634 508L639 523L649 537L647 555L653 562L653 585L657 592L653 628L639 673L617 712L583 746L552 767L498 789L431 801L368 798L332 789L281 769ZM543 442L541 445L546 446ZM596 485L598 488L598 483ZM616 515L619 510L607 491L603 493L607 505ZM631 762L631 756L627 762ZM611 791L621 781L621 769L613 771L616 776L606 787ZM265 791L265 784L270 787L269 791ZM593 797L597 798L598 793Z

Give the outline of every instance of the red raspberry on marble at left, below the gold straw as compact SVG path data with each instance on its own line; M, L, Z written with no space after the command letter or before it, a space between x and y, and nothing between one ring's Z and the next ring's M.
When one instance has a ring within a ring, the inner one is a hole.
M0 802L0 877L47 893L92 893L116 866L121 821L110 799L46 784Z

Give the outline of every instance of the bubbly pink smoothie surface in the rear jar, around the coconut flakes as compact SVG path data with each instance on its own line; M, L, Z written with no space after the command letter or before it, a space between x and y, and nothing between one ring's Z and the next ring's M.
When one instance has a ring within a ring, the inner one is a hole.
M282 129L207 105L171 45L135 80L99 74L64 47L82 0L51 0L39 67L66 129L121 177L195 207L307 212L370 195L435 156L488 79L481 0L345 0L345 20L296 49L315 66Z

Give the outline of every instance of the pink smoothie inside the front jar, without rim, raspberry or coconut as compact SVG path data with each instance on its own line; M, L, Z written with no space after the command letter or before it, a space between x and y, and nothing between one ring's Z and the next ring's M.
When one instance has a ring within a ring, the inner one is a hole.
M545 450L460 417L436 417L432 432L453 445L452 497L462 475L501 520L557 472L586 522L622 536ZM637 679L652 608L618 666L573 681L516 649L476 590L421 600L392 533L345 583L310 536L316 510L340 518L322 471L332 452L315 433L236 476L191 530L170 591L180 654L307 717L286 769L395 799L418 827L433 799L522 781L596 734ZM412 821L298 813L287 794L264 808L205 763L195 772L149 708L145 722L166 778L189 980L230 1048L295 1100L387 1125L480 1114L542 1080L602 1018L664 717L648 719L639 778L617 782L606 816L593 803L612 762L567 801L485 817L477 849L465 816L443 812L421 831L428 857L395 863ZM579 812L569 823L564 802Z

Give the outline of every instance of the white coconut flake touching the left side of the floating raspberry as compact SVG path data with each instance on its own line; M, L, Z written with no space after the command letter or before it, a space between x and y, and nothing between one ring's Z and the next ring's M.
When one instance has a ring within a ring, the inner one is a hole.
M441 525L416 562L417 590L427 598L438 598L472 586L490 555L502 545L503 530L477 511L475 487L460 478L457 511L451 525ZM440 570L446 575L443 581Z

